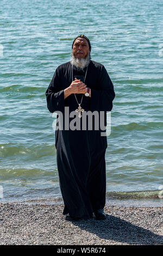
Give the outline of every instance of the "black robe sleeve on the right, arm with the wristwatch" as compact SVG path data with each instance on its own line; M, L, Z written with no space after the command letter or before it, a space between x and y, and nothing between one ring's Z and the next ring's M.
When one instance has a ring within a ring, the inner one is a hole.
M114 86L108 72L102 66L99 75L99 90L91 89L91 111L111 111L114 98Z

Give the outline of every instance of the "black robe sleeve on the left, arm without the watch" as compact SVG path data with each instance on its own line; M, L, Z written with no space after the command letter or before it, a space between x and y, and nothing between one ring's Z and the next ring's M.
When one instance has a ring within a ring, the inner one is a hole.
M51 113L63 111L65 107L64 90L60 88L59 68L55 70L52 81L46 90L47 107Z

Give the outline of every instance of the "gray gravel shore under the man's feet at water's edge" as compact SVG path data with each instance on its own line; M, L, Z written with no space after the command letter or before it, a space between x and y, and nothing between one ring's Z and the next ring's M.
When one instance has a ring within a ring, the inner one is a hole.
M162 208L105 206L106 220L65 221L63 205L0 204L0 245L162 245Z

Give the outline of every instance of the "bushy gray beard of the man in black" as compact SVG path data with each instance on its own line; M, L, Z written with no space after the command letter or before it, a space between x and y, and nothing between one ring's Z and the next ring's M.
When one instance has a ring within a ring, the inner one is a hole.
M76 68L78 68L79 70L83 70L87 65L89 65L91 60L91 55L90 55L90 51L87 54L86 58L76 58L74 57L73 52L71 52L71 60L70 63L74 66L76 66Z

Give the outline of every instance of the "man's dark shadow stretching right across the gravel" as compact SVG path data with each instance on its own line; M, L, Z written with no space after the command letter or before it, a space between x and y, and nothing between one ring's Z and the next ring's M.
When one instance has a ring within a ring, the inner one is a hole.
M163 237L152 231L131 224L121 218L107 215L106 220L73 221L80 229L96 234L101 239L129 245L162 245Z

